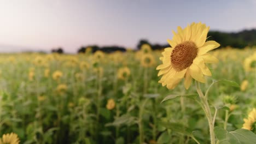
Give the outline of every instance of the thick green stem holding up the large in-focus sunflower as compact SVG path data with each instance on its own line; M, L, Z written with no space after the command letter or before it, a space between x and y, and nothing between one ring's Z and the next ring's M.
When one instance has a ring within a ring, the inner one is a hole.
M208 125L210 128L211 144L216 144L215 134L214 134L214 123L213 123L212 113L211 113L210 106L208 104L207 97L205 97L205 95L203 95L201 88L200 88L200 83L195 81L195 84L196 84L196 91L199 94L199 97L200 97L202 105L203 105L202 106L203 111L205 111L205 115L208 120Z

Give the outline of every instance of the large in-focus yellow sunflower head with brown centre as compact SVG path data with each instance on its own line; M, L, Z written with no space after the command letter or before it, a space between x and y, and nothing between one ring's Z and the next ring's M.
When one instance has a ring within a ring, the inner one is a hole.
M156 69L162 75L160 83L168 89L174 89L184 78L184 86L188 89L193 79L205 83L204 75L211 76L211 71L205 63L216 63L218 59L209 53L219 47L216 41L206 41L210 27L205 24L192 23L186 28L178 27L173 31L173 39L167 40L171 47L167 47L160 57L162 64Z

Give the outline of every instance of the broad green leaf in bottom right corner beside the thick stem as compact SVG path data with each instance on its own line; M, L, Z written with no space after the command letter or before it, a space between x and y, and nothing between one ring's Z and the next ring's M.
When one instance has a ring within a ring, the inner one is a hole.
M214 133L219 140L219 144L254 144L256 142L256 135L247 129L228 132L223 128L215 127Z

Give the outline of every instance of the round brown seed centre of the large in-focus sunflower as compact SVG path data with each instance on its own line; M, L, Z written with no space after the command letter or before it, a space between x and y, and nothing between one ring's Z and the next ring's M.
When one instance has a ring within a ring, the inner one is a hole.
M184 41L174 47L171 54L172 67L177 71L188 68L197 55L197 47L193 41Z

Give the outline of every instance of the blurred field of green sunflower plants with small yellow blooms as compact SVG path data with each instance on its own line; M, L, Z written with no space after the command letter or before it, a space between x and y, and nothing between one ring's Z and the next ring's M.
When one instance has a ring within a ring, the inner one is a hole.
M214 131L224 143L235 140L228 131L241 129L256 108L256 54L252 47L211 53L219 63L207 64L212 76L200 86L203 93L210 87ZM195 82L188 90L183 82L173 90L162 87L160 56L143 49L1 54L0 135L15 133L27 144L210 143ZM252 133L243 133L253 142L256 123L250 126Z

